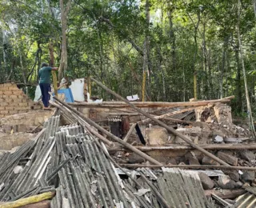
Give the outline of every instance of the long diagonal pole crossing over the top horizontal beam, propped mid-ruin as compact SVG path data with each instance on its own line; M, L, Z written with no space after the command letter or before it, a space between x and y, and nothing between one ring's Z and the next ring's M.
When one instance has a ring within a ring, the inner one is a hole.
M147 114L145 111L140 110L138 107L134 106L134 104L132 104L131 102L127 101L125 98L122 98L119 94L116 94L114 91L110 90L109 88L107 88L106 86L104 86L102 84L102 82L98 82L96 79L91 78L92 81L96 82L98 84L98 86L101 86L102 89L106 90L107 92L109 92L110 94L113 94L116 98L122 100L123 102L126 102L128 105L130 105L132 108L134 108L134 110L137 110L139 113L145 115L147 118L152 119L154 122L158 123L158 125L166 128L166 130L170 131L172 134L178 136L179 138L182 138L182 140L184 140L185 142L187 142L188 144L190 144L190 146L193 146L195 149L201 151L203 154L207 155L209 158L214 159L214 161L219 162L220 164L222 164L223 166L230 166L229 164L227 164L226 162L222 161L220 158L217 158L214 154L210 154L210 152L204 150L202 147L194 144L194 142L191 142L188 138L186 138L184 135L178 133L177 130L174 130L174 128L167 126L165 123L159 121L158 119L154 118L153 116L151 116L150 114ZM138 149L136 149L138 150Z

